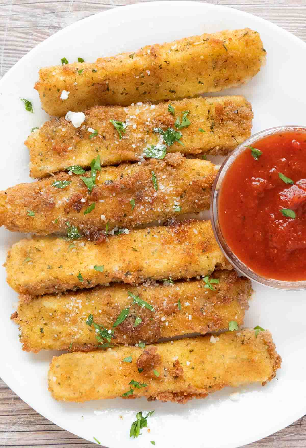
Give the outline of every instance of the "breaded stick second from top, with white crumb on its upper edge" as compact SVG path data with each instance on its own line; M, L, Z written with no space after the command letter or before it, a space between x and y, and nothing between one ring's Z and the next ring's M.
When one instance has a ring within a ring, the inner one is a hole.
M174 108L173 115L168 111L169 105ZM190 125L177 129L175 122L179 119L181 123L185 111L190 111ZM25 143L30 152L31 177L45 177L71 165L86 168L97 155L101 165L142 160L146 148L160 146L165 140L173 143L167 146L168 152L225 155L250 137L253 112L250 103L237 95L184 99L156 106L100 106L85 112L85 118L78 128L65 118L47 121L30 134ZM122 138L110 120L125 123ZM158 131L169 128L181 132L178 141L163 139Z

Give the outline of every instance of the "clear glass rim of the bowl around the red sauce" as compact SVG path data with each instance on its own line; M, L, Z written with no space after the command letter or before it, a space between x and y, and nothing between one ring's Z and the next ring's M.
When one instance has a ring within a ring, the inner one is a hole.
M278 134L280 132L303 132L306 134L306 127L303 126L277 126L275 128L266 129L264 131L258 132L257 134L252 135L250 138L245 140L241 145L239 145L228 157L224 160L223 164L220 167L218 175L215 179L214 185L212 187L211 192L211 224L215 233L215 238L218 241L222 252L228 259L228 261L240 272L242 275L248 277L250 280L253 280L257 283L264 284L266 286L270 286L271 288L277 289L306 289L306 280L300 281L282 281L275 279L268 279L266 277L262 277L248 266L243 263L237 256L233 253L233 251L227 245L219 224L218 219L218 196L219 190L222 185L222 181L228 168L231 166L233 161L240 155L243 151L247 151L246 145L252 145L261 140L264 137L267 137L272 134Z

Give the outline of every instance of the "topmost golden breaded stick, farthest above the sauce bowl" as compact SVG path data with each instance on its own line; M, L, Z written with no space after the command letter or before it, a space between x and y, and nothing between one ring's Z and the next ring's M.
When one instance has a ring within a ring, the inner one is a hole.
M250 28L186 37L137 52L39 70L35 89L50 115L94 105L181 99L248 82L265 63L259 34ZM65 90L67 99L61 99Z

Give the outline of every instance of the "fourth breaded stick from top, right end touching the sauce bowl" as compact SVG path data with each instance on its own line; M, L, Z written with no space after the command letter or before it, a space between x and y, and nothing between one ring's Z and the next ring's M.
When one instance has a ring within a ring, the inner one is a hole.
M91 241L84 241L71 235L71 229L73 241L54 236L22 239L9 250L7 282L18 293L34 296L113 281L185 279L210 274L215 268L232 268L210 221L125 232L105 237L100 244L93 241L95 233Z

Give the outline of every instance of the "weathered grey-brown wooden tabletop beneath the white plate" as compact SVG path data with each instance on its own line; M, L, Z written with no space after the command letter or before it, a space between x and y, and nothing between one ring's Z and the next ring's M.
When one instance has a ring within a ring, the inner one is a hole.
M145 1L145 0L143 0ZM0 2L0 77L39 42L77 20L134 0L7 0ZM211 0L263 17L306 41L306 0ZM3 341L2 341L3 343ZM1 360L5 362L5 360ZM285 412L285 409L284 409ZM93 446L37 414L0 379L0 447ZM252 448L306 447L306 416ZM214 447L212 447L214 448Z

